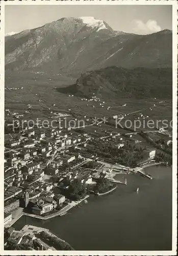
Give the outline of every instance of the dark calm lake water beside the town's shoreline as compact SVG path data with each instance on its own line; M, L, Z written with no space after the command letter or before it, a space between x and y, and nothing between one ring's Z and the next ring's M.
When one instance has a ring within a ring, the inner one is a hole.
M75 250L171 250L172 170L145 170L154 179L119 174L115 178L126 177L128 184L118 184L111 194L91 196L81 208L47 221L23 216L13 227L43 226Z

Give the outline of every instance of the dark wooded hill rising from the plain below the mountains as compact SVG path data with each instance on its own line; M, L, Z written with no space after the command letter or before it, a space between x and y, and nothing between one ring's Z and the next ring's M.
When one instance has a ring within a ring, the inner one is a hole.
M85 97L172 98L172 70L113 66L86 72L75 84L57 90Z

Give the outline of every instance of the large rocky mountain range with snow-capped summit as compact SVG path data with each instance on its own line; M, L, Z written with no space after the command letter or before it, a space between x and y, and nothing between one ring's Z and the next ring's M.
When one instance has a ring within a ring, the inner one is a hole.
M94 17L61 18L5 37L5 69L75 74L117 66L171 68L172 31L114 31Z

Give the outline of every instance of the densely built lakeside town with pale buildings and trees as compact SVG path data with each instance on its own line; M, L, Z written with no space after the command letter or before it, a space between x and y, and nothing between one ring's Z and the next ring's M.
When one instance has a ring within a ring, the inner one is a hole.
M10 110L5 113L8 118L14 117ZM65 113L58 116L69 117ZM23 115L15 113L15 118L21 120ZM9 132L13 124L7 122L5 129ZM99 122L90 125L94 129L101 126ZM64 216L72 207L80 207L82 201L87 203L91 194L105 195L117 185L126 185L126 179L114 179L116 174L139 174L151 179L142 168L171 165L171 156L160 151L171 151L171 133L162 128L157 134L163 138L154 141L144 132L118 133L100 128L98 133L87 131L85 126L75 128L23 123L15 133L5 134L6 234L22 215L41 220ZM7 246L12 236L8 239ZM19 240L13 243L19 244Z

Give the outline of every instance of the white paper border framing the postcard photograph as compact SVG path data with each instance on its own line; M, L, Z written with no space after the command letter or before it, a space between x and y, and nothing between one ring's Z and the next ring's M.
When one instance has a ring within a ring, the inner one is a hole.
M4 250L4 200L0 201L1 222L0 222L0 254L1 255L176 255L177 241L177 2L174 0L159 1L159 0L94 0L94 1L1 1L1 30L0 30L0 179L1 195L4 195L4 41L5 41L5 6L7 5L172 5L172 53L173 53L173 163L172 163L172 250L171 251L5 251Z

